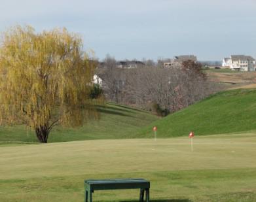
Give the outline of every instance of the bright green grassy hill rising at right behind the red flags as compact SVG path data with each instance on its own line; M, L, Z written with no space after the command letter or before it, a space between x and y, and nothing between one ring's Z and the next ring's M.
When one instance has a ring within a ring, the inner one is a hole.
M158 137L211 135L256 130L256 90L231 90L217 93L187 109L180 110L153 122L139 131L139 137L153 135L157 126Z

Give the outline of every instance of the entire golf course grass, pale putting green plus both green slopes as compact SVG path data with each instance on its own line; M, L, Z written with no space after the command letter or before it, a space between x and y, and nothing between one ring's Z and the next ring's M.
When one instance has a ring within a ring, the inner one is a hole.
M166 118L108 103L100 120L56 127L48 144L1 127L0 201L83 201L89 178L145 178L153 202L256 201L255 95L217 93ZM138 199L139 190L94 192L94 201Z

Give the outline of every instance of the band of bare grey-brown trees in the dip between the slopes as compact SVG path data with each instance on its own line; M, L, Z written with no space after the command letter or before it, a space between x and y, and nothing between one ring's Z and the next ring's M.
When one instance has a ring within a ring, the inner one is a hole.
M105 58L98 68L108 101L136 105L166 116L203 99L214 91L200 63L188 60L170 68L146 63L119 68L115 58Z

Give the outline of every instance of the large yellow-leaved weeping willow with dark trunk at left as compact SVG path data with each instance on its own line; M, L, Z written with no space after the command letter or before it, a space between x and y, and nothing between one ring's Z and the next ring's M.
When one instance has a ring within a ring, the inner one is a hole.
M0 46L0 121L26 124L47 143L52 127L81 126L97 116L90 99L95 63L79 35L12 27Z

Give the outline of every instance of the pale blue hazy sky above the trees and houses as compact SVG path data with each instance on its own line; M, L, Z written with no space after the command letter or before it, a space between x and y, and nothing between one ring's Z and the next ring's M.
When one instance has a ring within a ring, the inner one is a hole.
M256 0L0 0L0 31L66 27L95 57L256 58Z

